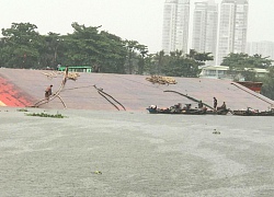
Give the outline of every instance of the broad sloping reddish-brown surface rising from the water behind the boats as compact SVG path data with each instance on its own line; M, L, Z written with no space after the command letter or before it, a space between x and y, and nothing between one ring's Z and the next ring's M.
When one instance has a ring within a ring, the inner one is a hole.
M60 97L50 100L42 108L70 108L91 111L142 112L150 105L169 107L178 103L197 106L202 101L213 107L226 102L232 111L252 107L266 111L274 102L238 83L220 79L172 78L175 84L159 84L147 80L149 76L87 73L67 80L58 92L62 74L48 70L0 69L0 103L7 106L33 106L44 100L45 89L53 84L53 93ZM59 94L60 93L60 94ZM210 107L208 107L210 108Z

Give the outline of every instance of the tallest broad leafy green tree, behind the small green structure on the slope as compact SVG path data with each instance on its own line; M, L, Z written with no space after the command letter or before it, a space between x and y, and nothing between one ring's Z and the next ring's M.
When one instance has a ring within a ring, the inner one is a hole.
M102 72L124 73L126 48L123 40L101 26L72 23L73 33L64 36L64 62L70 65L100 65Z

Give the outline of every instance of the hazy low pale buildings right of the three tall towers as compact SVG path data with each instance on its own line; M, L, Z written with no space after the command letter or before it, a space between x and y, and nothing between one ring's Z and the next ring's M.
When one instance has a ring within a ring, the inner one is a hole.
M253 56L255 54L262 55L262 57L270 57L274 60L274 42L252 42L248 43L247 54Z

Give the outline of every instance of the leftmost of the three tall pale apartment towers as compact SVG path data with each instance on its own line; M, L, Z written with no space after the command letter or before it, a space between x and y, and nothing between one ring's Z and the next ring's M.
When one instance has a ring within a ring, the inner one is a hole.
M165 0L163 10L162 49L164 53L187 53L190 0Z

